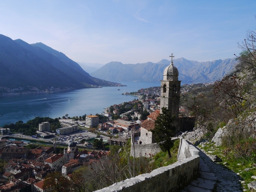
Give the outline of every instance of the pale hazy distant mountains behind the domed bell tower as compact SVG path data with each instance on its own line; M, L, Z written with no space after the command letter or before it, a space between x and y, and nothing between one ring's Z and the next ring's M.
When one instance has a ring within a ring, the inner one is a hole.
M179 80L186 83L207 83L221 79L232 71L236 59L214 60L207 62L190 61L184 58L174 59L173 64L179 70ZM123 64L110 62L91 73L94 77L113 82L159 82L163 78L163 70L170 61L163 59L157 63Z

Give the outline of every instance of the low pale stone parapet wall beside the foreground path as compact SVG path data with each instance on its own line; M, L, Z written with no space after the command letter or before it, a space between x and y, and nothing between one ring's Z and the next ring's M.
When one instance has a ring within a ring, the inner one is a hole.
M181 138L177 160L172 165L160 167L151 173L120 181L97 192L178 191L198 175L199 151L185 141L185 139Z

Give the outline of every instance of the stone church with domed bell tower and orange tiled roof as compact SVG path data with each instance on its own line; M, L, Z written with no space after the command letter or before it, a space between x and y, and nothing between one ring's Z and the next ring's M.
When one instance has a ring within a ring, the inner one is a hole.
M179 118L181 81L178 79L179 71L173 65L173 54L170 57L171 63L163 71L163 80L161 80L160 110L155 110L141 124L140 141L142 144L156 143L151 130L154 129L155 120L162 113L163 107L166 107L175 115L174 126L177 129L185 130L194 127L194 124L191 124L192 121L189 122L188 118Z

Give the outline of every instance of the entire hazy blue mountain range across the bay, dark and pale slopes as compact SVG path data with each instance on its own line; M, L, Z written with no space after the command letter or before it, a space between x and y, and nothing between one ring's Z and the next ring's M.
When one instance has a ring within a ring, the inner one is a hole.
M0 94L120 86L112 82L159 82L170 61L123 64L81 63L43 43L28 44L0 34ZM174 59L182 84L207 83L229 74L236 59L207 62ZM87 73L86 71L89 71ZM102 80L103 79L103 80Z

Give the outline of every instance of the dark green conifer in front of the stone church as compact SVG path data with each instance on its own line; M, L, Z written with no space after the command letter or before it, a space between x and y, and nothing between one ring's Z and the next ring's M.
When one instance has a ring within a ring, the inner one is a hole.
M170 158L170 148L173 146L171 137L175 135L177 130L176 127L173 126L174 120L175 116L172 116L171 111L163 107L162 113L156 118L155 128L151 130L162 151L167 151Z

